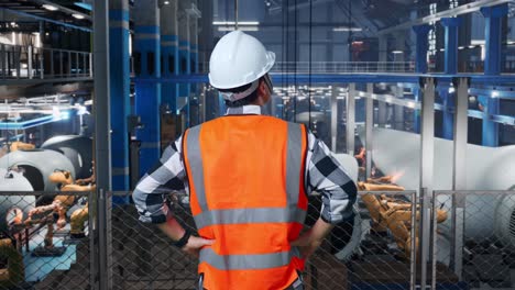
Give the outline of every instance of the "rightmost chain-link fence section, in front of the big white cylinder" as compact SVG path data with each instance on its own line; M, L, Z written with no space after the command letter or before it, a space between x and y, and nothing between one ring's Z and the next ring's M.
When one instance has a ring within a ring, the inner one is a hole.
M432 286L515 289L515 191L436 191L434 200L449 219L434 215Z

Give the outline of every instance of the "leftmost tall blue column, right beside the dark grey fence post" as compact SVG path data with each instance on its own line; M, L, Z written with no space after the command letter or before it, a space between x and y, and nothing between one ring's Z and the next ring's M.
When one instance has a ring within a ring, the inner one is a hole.
M131 113L129 69L129 0L109 1L109 58L111 67L112 189L129 190L129 130ZM124 198L129 201L129 198Z

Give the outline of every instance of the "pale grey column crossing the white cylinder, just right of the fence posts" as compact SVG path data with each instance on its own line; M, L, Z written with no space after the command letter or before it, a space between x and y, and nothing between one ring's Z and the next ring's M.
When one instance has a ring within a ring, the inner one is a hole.
M454 78L456 113L454 141L452 159L452 190L467 189L467 138L469 124L469 79ZM456 194L452 199L452 241L451 266L461 279L463 268L463 227L464 227L463 194Z

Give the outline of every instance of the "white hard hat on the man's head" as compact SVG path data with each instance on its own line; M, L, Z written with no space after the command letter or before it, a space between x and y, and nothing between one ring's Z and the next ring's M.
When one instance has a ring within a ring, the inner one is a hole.
M226 34L215 46L209 60L209 83L217 89L233 89L254 82L274 66L275 54L241 31Z

